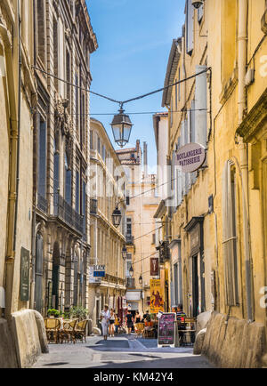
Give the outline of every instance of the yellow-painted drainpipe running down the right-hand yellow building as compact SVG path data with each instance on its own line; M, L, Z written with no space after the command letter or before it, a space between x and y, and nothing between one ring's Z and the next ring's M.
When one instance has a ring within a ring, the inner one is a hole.
M247 109L245 76L247 71L247 0L239 0L239 125ZM243 231L245 246L245 271L247 292L247 320L254 320L252 301L252 272L249 245L248 161L247 144L239 139L239 156L242 177Z

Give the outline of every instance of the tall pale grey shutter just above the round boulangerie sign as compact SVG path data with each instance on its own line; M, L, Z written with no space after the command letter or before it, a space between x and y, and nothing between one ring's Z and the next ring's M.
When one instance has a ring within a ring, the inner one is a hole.
M196 66L196 74L206 69L206 66ZM196 142L206 148L206 73L196 76Z

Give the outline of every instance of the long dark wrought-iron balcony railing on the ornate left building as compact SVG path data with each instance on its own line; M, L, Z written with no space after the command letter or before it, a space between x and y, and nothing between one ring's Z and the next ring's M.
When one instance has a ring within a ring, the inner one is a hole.
M54 197L54 215L81 235L84 234L83 216L77 213L61 195L55 195Z

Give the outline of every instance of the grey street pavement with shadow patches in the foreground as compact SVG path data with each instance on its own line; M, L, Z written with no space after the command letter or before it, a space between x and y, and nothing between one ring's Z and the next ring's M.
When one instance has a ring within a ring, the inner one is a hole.
M158 348L157 340L118 335L104 341L89 336L86 343L50 344L33 368L212 368L191 347Z

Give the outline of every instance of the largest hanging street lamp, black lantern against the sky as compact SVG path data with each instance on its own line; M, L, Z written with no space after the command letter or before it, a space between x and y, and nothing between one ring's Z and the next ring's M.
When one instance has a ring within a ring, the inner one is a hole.
M118 114L113 117L113 121L110 124L112 127L114 140L121 148L123 148L125 144L129 142L133 126L131 119L129 116L124 114L124 112L125 110L123 109L123 104L121 103Z

